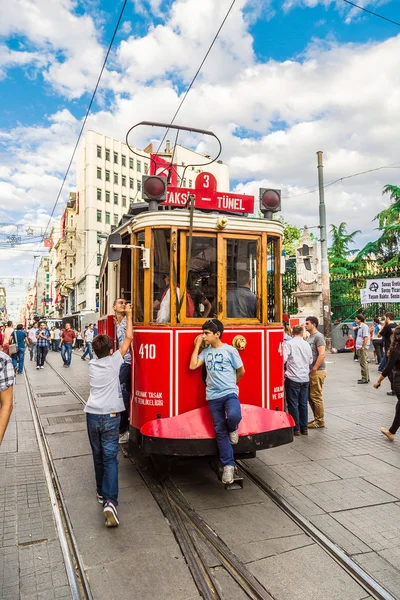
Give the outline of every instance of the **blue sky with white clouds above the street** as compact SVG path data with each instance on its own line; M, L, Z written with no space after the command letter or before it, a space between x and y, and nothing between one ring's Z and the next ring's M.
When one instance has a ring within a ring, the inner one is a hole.
M87 128L169 121L231 2L128 0ZM400 21L398 0L357 3ZM0 276L29 278L43 252L8 236L47 225L122 4L0 0ZM281 188L299 226L317 223L317 150L326 183L394 165L326 189L328 224L362 247L399 183L399 57L400 28L343 0L236 0L177 122L215 131L231 189Z

